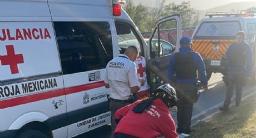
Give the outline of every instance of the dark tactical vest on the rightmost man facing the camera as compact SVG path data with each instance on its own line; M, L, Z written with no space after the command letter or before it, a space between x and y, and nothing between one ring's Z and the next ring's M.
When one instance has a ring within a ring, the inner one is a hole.
M246 46L232 46L228 57L229 67L245 67Z

